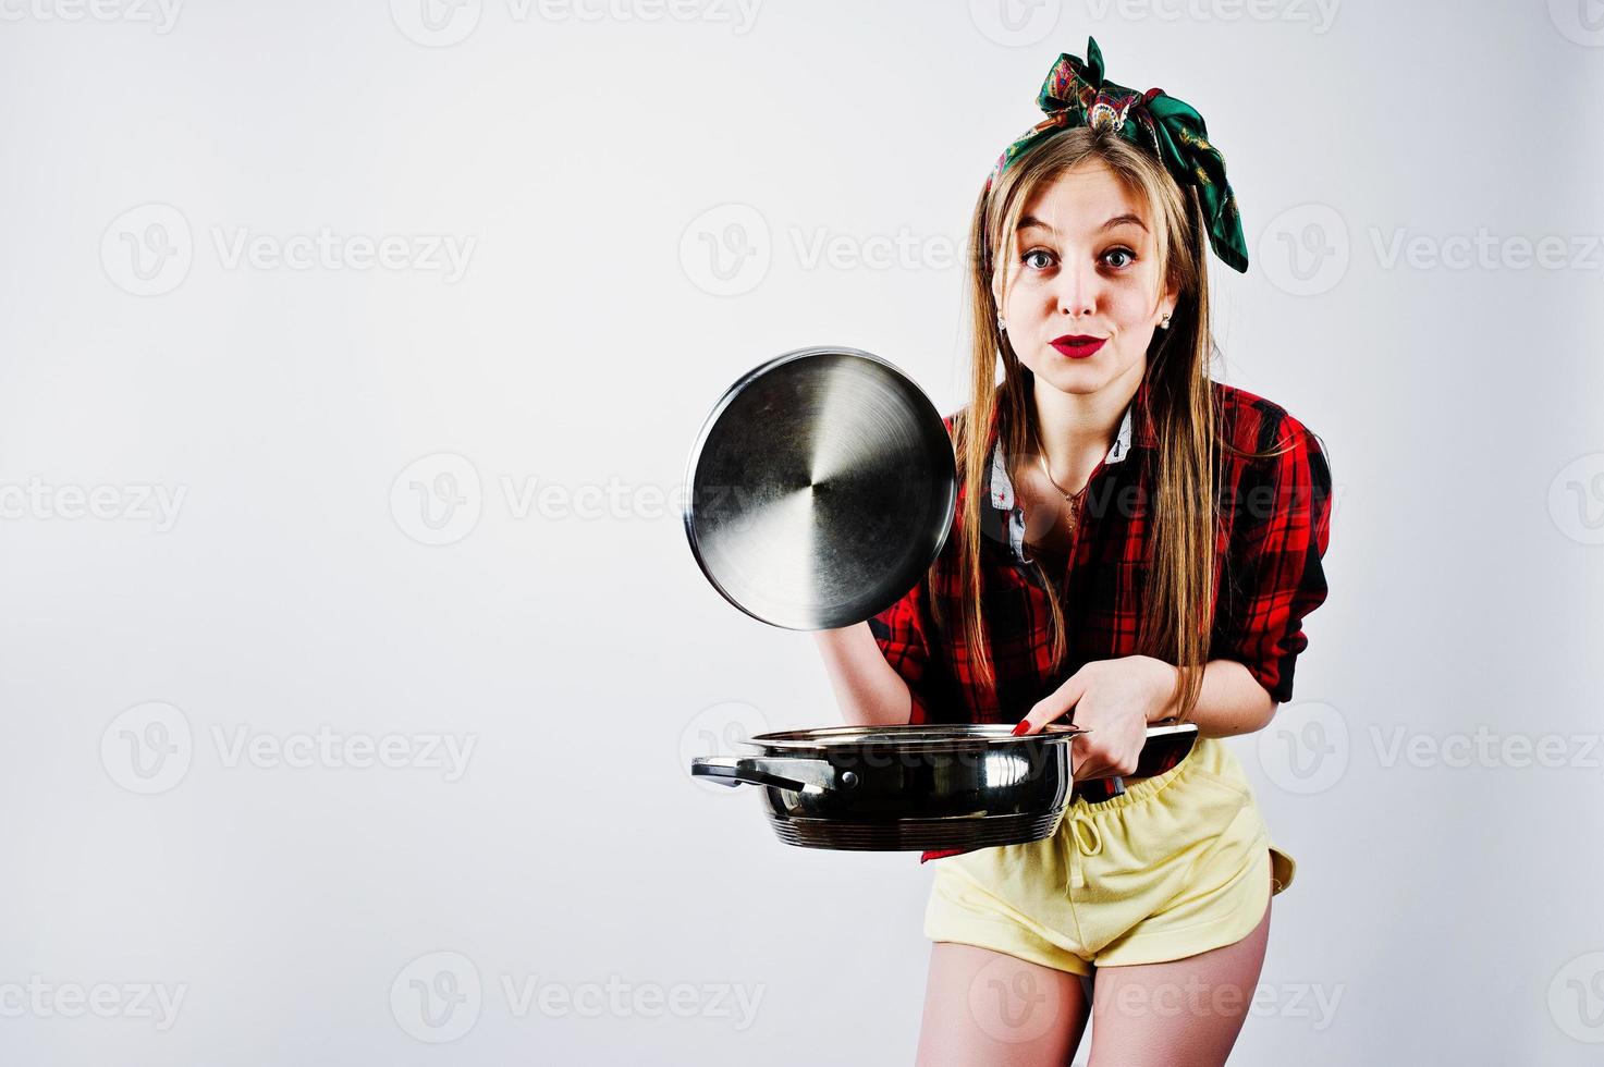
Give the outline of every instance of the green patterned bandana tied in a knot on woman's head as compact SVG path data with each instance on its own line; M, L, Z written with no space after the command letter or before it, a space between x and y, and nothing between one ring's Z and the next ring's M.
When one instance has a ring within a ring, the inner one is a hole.
M1003 149L986 178L986 193L1020 156L1059 130L1110 127L1132 144L1152 149L1182 188L1197 188L1214 255L1232 270L1248 271L1248 244L1241 236L1237 197L1225 181L1225 157L1208 143L1203 116L1190 104L1161 88L1137 93L1104 80L1102 50L1088 37L1086 63L1068 53L1059 56L1041 83L1036 106L1047 117Z

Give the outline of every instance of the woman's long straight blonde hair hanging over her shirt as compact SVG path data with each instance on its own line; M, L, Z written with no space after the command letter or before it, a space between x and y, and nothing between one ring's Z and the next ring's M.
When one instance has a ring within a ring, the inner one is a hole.
M1176 664L1179 677L1173 712L1192 714L1203 685L1214 618L1217 414L1213 403L1208 329L1208 271L1203 257L1208 239L1197 194L1185 191L1163 164L1112 130L1075 127L1057 133L1014 165L996 186L982 193L969 226L969 297L974 329L972 396L953 420L953 444L964 483L959 554L964 579L962 626L974 650L972 663L986 685L996 685L991 656L983 640L980 605L980 509L986 501L988 433L998 420L998 441L1009 460L1009 477L1030 454L1031 374L1006 334L998 331L993 284L1006 278L1015 258L1015 229L1025 204L1046 185L1084 162L1102 162L1113 176L1148 204L1156 218L1155 236L1163 282L1179 290L1169 329L1158 331L1147 351L1148 409L1156 435L1156 481L1152 496L1153 555L1142 618L1139 655ZM999 274L1003 271L1003 274ZM1001 286L999 286L1001 287ZM1158 300L1155 298L1155 310ZM1003 382L996 382L998 363ZM1229 443L1225 443L1230 448ZM1237 452L1238 449L1233 449ZM1139 454L1139 452L1137 452ZM1238 452L1241 454L1241 452ZM1015 480L1017 485L1017 480ZM1057 581L1038 557L1038 574L1051 605L1052 666L1062 669L1068 653L1063 603ZM929 598L942 626L938 598Z

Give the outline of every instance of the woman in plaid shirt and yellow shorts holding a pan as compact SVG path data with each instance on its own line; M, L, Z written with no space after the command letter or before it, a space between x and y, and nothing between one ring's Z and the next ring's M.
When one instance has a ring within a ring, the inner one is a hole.
M1331 477L1285 409L1209 380L1205 242L1248 260L1201 117L1105 82L1096 42L1039 104L970 223L953 533L901 602L818 642L849 722L1088 730L1052 838L924 855L919 1062L1063 1064L1091 1016L1092 1064L1219 1064L1294 870L1219 738L1291 696ZM1139 767L1174 719L1197 741Z

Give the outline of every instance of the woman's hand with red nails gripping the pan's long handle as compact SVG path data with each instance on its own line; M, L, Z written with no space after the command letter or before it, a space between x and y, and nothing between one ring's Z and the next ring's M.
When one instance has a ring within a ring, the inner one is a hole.
M1015 730L1036 733L1073 708L1075 725L1086 730L1073 744L1079 751L1075 778L1131 775L1147 741L1147 725L1174 706L1174 687L1176 666L1163 659L1094 659L1038 701Z

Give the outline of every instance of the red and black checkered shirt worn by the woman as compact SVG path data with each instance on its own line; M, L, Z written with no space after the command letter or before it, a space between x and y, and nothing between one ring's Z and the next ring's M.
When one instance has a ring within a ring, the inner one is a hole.
M1208 656L1241 663L1272 700L1285 703L1293 693L1293 663L1309 643L1302 619L1327 594L1320 560L1330 534L1331 472L1314 435L1280 406L1222 382L1214 382L1214 395L1224 440L1243 451L1291 448L1269 459L1221 449L1217 598ZM951 430L953 417L945 422ZM1025 512L1014 499L993 422L990 507L982 509L980 550L985 639L996 684L983 685L975 677L962 634L959 486L953 529L929 581L869 619L885 661L908 682L911 724L1012 725L1086 663L1137 655L1153 526L1155 444L1144 382L1081 499L1079 529L1060 586L1068 658L1052 671L1047 594L1023 546ZM930 619L930 595L940 597L940 631ZM926 852L921 862L961 850Z

